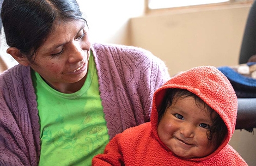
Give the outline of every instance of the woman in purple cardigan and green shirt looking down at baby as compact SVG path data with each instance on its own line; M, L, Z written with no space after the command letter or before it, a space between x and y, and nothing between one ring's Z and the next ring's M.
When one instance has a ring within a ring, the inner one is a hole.
M91 44L75 0L4 0L0 165L90 165L115 134L149 121L165 64L142 48Z

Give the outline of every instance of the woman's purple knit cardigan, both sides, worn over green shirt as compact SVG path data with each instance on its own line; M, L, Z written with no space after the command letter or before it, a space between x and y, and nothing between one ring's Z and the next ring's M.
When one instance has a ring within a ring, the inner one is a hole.
M166 65L149 51L92 45L110 139L149 121L154 91L169 79ZM40 125L30 67L0 75L0 165L38 165Z

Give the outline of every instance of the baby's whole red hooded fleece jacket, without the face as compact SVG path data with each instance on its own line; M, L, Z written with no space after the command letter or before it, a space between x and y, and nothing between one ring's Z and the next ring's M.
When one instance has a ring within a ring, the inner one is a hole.
M222 144L209 156L178 157L159 138L157 108L169 88L187 89L196 94L225 122L228 133ZM156 90L151 121L115 136L106 146L105 153L93 158L93 165L247 165L239 153L228 145L235 130L236 113L237 98L227 77L213 66L194 67L174 76Z

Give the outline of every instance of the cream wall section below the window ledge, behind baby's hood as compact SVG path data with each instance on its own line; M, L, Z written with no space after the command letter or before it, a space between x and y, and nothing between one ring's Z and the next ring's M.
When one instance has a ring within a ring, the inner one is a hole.
M201 65L236 65L249 7L131 20L132 44L163 59L170 75Z

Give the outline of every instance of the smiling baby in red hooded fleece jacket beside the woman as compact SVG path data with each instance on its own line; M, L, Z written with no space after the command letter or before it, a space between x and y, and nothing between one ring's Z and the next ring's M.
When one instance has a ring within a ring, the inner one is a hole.
M222 72L194 67L155 91L151 121L115 136L93 165L247 165L228 143L237 97Z

